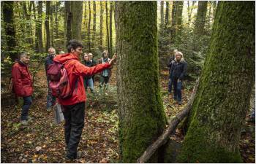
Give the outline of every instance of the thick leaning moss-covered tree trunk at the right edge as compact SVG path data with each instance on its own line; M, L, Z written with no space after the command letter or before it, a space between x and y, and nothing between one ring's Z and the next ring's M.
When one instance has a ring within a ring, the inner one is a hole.
M238 141L254 80L255 1L219 1L178 162L242 162Z

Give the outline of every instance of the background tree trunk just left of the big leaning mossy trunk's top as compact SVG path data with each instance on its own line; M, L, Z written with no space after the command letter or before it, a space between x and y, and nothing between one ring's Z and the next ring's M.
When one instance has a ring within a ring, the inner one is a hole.
M207 1L198 1L197 19L195 20L194 32L196 35L204 34L206 23Z

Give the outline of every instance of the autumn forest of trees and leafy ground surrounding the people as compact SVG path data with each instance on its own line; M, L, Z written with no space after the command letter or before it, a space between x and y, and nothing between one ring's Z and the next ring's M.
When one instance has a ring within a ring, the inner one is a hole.
M75 54L72 39L84 65L116 60L108 85L85 87L70 161L45 62ZM28 124L13 91L24 52ZM1 163L255 163L255 1L1 1Z

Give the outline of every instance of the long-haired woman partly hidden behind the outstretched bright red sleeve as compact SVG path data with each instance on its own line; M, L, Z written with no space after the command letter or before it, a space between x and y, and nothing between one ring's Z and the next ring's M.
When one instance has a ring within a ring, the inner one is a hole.
M89 53L89 54L91 54L91 53ZM92 67L93 63L89 58L89 54L84 53L84 55L83 55L84 65L88 66L88 67ZM91 76L84 77L83 85L84 85L85 89L87 89L87 87L89 87L91 90L91 93L94 93L94 82L93 82Z

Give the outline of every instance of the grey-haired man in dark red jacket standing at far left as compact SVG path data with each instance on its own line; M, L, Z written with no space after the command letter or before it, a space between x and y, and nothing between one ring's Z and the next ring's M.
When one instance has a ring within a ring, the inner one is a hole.
M28 124L29 107L32 104L31 95L33 93L31 74L29 73L30 56L24 52L20 55L20 60L16 61L12 66L12 82L15 95L23 97L23 107L20 122L23 125Z

